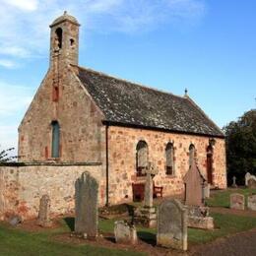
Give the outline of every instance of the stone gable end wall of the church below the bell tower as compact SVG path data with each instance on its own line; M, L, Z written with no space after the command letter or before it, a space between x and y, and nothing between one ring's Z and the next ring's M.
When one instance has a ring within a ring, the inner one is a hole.
M102 114L76 78L72 67L59 63L42 81L19 128L20 161L51 159L52 121L60 126L59 161L101 161L104 151ZM57 76L57 78L56 78ZM59 96L53 101L53 83L59 79Z

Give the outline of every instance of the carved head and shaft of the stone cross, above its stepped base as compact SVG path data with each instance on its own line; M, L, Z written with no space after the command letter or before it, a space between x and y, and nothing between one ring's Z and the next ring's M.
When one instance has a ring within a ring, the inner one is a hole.
M146 173L146 184L145 184L145 195L144 195L144 207L153 207L153 178L159 173L158 168L149 162L148 166L145 168Z

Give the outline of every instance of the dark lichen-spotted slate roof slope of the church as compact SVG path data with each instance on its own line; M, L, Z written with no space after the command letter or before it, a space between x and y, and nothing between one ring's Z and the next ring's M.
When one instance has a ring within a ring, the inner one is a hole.
M224 137L189 97L174 96L87 68L78 78L112 124Z

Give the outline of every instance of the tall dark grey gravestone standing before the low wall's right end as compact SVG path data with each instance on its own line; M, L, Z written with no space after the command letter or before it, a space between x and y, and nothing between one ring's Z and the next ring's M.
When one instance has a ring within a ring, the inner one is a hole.
M75 232L84 238L97 236L98 183L90 172L84 172L76 181Z

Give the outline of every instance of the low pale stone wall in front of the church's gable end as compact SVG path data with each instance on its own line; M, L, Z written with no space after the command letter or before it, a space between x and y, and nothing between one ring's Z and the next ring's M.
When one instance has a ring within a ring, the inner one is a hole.
M99 163L81 165L20 164L0 166L0 220L19 215L24 220L36 218L42 195L51 201L51 215L73 213L75 182L89 171L99 182L99 205L104 204L104 184Z

